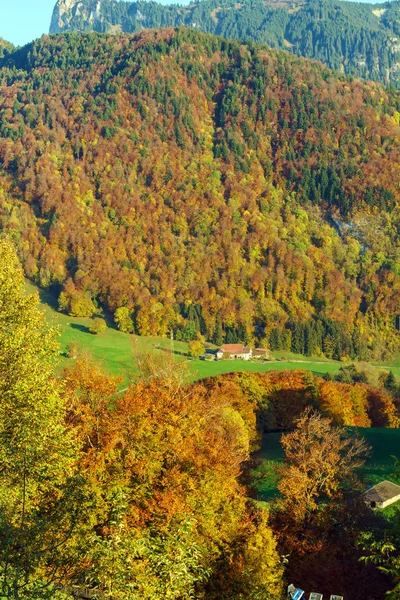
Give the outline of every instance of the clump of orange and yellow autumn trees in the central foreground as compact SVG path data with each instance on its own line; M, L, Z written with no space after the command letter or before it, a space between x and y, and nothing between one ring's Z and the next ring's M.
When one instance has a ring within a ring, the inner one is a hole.
M70 580L115 598L278 593L276 542L239 483L254 407L142 367L121 394L86 361L66 373L87 498Z

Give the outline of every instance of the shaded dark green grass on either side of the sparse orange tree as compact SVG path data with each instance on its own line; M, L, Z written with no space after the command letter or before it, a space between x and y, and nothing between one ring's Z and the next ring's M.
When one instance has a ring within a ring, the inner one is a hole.
M400 457L400 429L377 427L371 429L358 427L355 429L372 447L371 456L361 470L361 476L366 487L375 485L384 479L393 481L391 474L393 473L394 462L391 457ZM255 473L258 480L259 500L268 502L276 498L278 494L274 467L283 460L280 437L280 433L265 435L261 450L257 453L257 456L262 459L262 463Z

